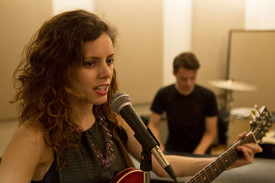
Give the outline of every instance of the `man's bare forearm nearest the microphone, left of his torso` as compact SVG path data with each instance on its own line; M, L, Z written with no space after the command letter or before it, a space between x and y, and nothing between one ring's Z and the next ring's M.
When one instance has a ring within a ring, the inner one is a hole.
M157 138L157 141L159 141L159 148L162 151L164 151L164 145L162 144L162 141L160 141L160 136L159 136L159 122L161 118L162 118L161 114L152 112L150 119L148 121L148 127L150 128L151 132L153 132L155 138Z

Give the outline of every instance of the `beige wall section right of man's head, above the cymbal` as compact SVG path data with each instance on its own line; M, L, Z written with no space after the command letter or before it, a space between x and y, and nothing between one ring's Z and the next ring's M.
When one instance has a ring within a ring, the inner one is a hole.
M193 4L192 51L201 62L197 81L225 79L230 29L243 29L245 0L195 0Z

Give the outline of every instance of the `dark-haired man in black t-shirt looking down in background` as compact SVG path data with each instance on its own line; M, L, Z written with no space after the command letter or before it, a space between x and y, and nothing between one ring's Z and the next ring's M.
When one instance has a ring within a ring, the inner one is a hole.
M161 88L151 106L148 127L162 151L209 154L217 135L217 101L214 93L196 84L199 61L193 53L177 56L173 62L176 83ZM158 125L166 112L168 139L165 147Z

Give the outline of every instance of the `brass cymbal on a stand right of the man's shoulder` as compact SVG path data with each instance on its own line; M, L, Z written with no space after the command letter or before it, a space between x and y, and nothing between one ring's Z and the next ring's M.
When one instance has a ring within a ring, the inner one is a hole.
M254 91L256 86L245 84L243 82L236 82L235 80L212 80L209 82L212 86L223 88L227 90L239 91Z

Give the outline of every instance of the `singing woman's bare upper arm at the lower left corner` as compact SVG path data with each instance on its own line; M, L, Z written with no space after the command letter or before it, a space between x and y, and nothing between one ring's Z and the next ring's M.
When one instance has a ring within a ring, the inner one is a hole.
M0 182L30 182L43 178L53 157L45 146L43 132L21 125L5 149L0 165Z

